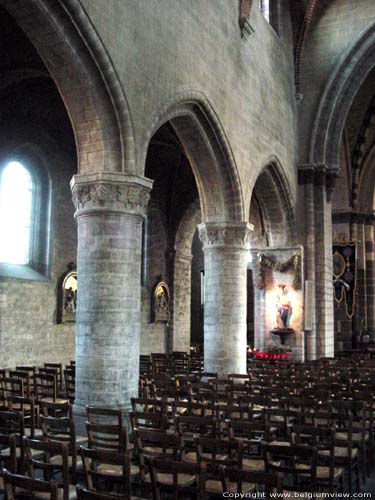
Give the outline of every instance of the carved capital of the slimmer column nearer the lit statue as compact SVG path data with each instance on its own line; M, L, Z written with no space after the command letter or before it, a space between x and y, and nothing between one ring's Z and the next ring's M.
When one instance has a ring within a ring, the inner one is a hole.
M203 250L208 248L250 248L250 233L254 226L248 222L204 222L198 225Z

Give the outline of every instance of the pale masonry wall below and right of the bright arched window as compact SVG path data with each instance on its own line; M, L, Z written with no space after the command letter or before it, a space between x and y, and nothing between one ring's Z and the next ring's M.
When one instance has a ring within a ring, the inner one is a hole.
M57 283L70 262L76 261L76 227L69 180L71 158L46 152L51 166L52 212L50 279L0 277L0 357L2 366L69 364L75 358L75 324L56 324Z

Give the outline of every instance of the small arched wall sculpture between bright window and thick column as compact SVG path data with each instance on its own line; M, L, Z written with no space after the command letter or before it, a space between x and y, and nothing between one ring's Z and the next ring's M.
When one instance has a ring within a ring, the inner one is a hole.
M71 323L76 320L77 271L71 262L62 274L57 290L57 323Z

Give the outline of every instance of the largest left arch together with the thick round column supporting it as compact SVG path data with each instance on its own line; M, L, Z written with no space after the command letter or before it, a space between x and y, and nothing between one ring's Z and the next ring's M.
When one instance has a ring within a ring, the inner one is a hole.
M142 218L152 186L137 175L126 97L78 0L0 0L0 6L39 53L75 135L79 173L71 188L81 290L75 413L84 419L86 405L126 409L138 393Z

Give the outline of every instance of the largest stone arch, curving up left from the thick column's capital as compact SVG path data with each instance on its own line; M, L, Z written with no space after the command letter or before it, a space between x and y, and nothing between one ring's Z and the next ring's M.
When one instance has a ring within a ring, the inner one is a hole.
M112 63L77 0L0 0L50 72L72 122L78 171L134 172L126 97Z

